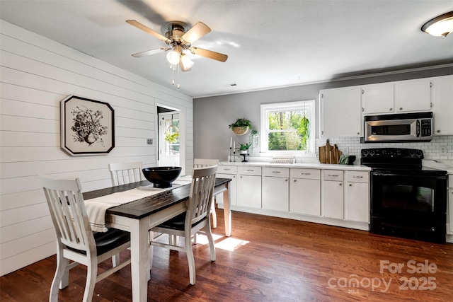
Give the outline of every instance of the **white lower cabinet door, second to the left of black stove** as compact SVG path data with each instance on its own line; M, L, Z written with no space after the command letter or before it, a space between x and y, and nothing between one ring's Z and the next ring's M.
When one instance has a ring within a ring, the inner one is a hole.
M343 182L323 181L321 207L322 216L343 219Z

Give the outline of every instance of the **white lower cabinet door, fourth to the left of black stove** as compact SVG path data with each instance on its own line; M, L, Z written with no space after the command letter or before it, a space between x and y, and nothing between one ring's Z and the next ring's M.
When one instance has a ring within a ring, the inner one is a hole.
M263 209L289 211L288 180L263 176Z

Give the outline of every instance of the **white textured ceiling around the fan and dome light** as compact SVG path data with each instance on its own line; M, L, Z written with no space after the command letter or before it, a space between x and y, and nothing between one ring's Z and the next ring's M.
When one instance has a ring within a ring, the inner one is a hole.
M131 56L166 44L125 20L159 33L169 21L202 21L212 32L193 46L229 58L191 55L192 71L175 73L194 98L452 63L453 34L420 31L448 11L452 0L0 1L1 19L175 90L164 52Z

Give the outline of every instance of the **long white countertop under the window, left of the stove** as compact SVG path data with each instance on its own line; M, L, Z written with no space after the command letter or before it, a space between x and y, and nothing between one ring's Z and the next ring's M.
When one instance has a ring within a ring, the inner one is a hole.
M279 168L306 168L306 169L330 169L330 170L355 170L369 171L371 168L366 165L331 165L326 163L268 163L265 161L221 161L219 165L256 165L259 167L279 167Z

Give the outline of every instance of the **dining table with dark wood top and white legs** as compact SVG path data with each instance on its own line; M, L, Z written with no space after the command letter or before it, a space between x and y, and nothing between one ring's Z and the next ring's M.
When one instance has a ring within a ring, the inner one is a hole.
M228 178L216 178L213 193L214 196L223 193L225 236L231 236L230 182L231 179ZM91 199L149 185L151 182L143 180L84 192L83 195L84 199ZM147 301L147 283L149 269L151 269L149 267L149 229L186 211L185 201L188 200L189 193L190 183L112 207L105 212L106 226L130 232L132 301Z

